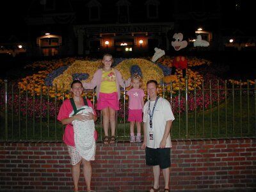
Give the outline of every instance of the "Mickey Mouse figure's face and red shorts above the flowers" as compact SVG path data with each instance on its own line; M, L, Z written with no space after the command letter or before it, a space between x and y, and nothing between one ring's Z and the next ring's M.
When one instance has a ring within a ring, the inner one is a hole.
M180 51L188 46L188 42L183 40L182 33L175 33L173 35L172 46L175 51ZM188 60L184 56L175 56L173 58L172 75L175 74L176 68L182 70L182 77L186 76L186 68L188 68Z

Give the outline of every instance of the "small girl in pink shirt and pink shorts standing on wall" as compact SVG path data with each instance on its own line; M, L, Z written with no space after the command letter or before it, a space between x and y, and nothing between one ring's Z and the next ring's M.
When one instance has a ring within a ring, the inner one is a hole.
M141 77L138 75L132 76L131 81L132 89L127 92L129 96L129 111L128 121L130 122L130 142L141 142L141 122L142 122L142 109L144 106L144 91L140 88ZM134 136L134 125L136 123L137 136Z

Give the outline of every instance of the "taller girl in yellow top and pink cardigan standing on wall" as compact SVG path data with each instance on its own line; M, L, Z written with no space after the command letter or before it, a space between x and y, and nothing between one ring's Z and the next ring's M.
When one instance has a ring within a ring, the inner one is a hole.
M102 110L104 140L108 145L116 142L116 110L119 110L120 86L127 87L131 84L131 78L124 81L120 72L111 68L113 57L111 54L104 54L103 68L100 68L93 75L90 83L83 83L84 88L92 90L97 86L97 110ZM108 136L109 122L111 127L111 137Z

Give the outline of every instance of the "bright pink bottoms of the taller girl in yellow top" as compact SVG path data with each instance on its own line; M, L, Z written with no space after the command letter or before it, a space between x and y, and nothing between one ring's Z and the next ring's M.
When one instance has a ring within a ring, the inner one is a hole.
M119 110L119 100L117 92L99 93L99 99L97 100L97 110L102 110L108 107Z

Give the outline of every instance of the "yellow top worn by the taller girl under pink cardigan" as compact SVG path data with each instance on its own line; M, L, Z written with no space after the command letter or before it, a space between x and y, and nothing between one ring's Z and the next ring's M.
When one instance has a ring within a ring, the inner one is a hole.
M113 93L117 92L116 90L116 75L115 71L104 71L102 70L102 79L100 84L101 93Z

